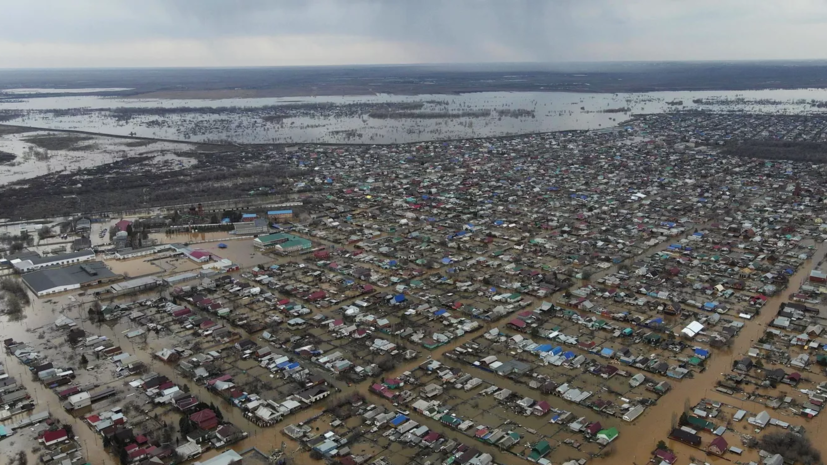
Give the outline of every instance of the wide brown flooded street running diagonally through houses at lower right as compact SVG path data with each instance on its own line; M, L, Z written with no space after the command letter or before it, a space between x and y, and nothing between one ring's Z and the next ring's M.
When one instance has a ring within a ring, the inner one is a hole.
M807 278L813 265L824 258L825 254L827 254L827 243L819 244L813 258L805 262L790 279L787 289L767 301L767 304L761 310L761 314L756 319L746 322L746 325L737 336L731 348L727 350L716 350L709 360L706 371L703 373L696 374L694 378L689 380L672 383L672 391L660 402L654 407L648 408L646 413L638 418L634 425L624 425L624 427L620 429L620 437L614 443L615 453L611 457L598 460L595 463L624 465L645 463L651 457L651 452L660 440L666 441L668 447L675 451L681 462L687 460L689 456L694 455L696 457L703 457L702 460L710 463L729 463L722 458L706 456L703 452L682 443L667 440L666 436L669 434L672 423L672 413L677 412L677 414L680 415L680 412L683 410L684 399L688 399L690 405L696 404L703 398L710 398L730 404L735 402L731 397L722 395L714 390L716 381L721 378L722 373L729 373L733 360L746 354L747 350L752 346L753 341L761 337L767 324L775 317L779 306L787 300L785 296L799 288L801 283ZM751 408L747 408L752 410L753 413L764 410L764 408L761 407L756 408L756 405L757 404ZM785 421L789 420L785 418ZM824 421L825 415L819 415L808 422L807 429L810 431L820 429L821 423ZM705 442L709 439L708 437L704 437ZM813 442L816 446L820 446L822 453L827 453L827 447L825 447L823 441L820 442L818 438L813 438ZM740 446L740 444L730 445ZM729 458L736 457L732 454L729 454L729 456ZM733 460L735 459L733 458Z

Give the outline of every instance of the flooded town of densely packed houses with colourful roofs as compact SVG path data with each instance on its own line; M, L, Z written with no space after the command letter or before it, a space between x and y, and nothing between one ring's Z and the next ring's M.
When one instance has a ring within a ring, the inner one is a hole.
M821 461L823 116L95 140L45 173L84 141L6 128L34 147L0 187L10 463Z

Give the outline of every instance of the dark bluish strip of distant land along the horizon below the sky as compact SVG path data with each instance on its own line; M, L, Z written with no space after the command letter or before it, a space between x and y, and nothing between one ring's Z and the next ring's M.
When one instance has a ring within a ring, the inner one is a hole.
M825 87L823 62L567 63L153 70L6 70L0 89L28 95L164 97L424 94L491 91L648 92ZM768 85L771 83L771 85ZM170 90L174 86L176 89ZM67 92L61 93L61 88ZM97 89L95 89L97 88ZM52 92L43 89L51 89ZM121 90L125 89L125 90ZM215 92L215 94L212 94ZM209 97L208 97L209 98Z

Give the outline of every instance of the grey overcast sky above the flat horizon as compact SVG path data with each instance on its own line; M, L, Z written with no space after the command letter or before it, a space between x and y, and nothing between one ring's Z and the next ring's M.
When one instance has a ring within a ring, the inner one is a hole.
M0 0L0 67L826 59L827 0Z

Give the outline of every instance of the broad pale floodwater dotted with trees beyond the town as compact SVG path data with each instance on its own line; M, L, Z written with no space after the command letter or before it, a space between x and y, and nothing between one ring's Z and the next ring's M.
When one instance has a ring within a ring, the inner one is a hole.
M0 100L8 124L237 143L403 143L616 126L633 114L708 110L821 113L825 89L585 94ZM2 147L0 147L2 149Z

